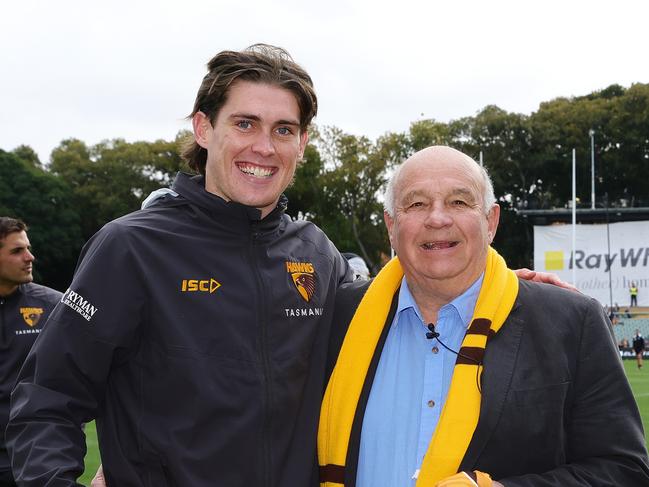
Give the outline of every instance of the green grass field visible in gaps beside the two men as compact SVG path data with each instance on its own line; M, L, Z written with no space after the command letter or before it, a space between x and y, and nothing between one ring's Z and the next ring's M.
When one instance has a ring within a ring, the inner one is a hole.
M645 441L649 445L649 441L647 441L649 438L649 361L645 362L642 370L638 370L635 360L625 360L624 368L631 383L635 399L638 402L638 408L642 416L642 424L645 427ZM86 472L79 479L79 482L83 485L90 485L90 481L94 477L100 462L99 449L97 447L97 432L94 422L86 426L86 443L88 445Z

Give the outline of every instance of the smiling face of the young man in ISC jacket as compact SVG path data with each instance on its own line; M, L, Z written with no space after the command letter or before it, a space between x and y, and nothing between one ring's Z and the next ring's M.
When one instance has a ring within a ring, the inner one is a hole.
M236 81L214 125L198 112L196 142L207 149L205 189L227 201L270 213L304 154L295 95L278 86Z

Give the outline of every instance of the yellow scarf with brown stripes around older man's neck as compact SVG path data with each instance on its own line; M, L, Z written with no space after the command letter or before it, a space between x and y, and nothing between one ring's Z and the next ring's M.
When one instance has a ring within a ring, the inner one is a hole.
M340 349L320 411L318 461L320 485L344 485L344 466L356 407L403 270L392 259L376 276L354 314ZM489 337L498 332L518 294L516 275L489 248L475 312L462 341L448 397L417 479L418 486L435 485L457 472L480 415L476 377ZM466 357L470 357L467 359Z

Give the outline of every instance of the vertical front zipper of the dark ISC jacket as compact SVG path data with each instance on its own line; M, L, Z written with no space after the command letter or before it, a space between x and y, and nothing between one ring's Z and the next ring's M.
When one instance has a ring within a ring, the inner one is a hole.
M263 371L263 428L262 428L262 462L263 462L263 477L264 485L270 487L272 485L272 468L271 468L271 458L270 458L270 429L271 429L271 406L272 406L272 390L271 390L271 369L270 369L270 358L268 353L268 310L266 294L264 289L264 282L261 278L259 272L259 265L257 260L257 239L259 238L259 232L254 229L252 230L252 241L251 241L251 256L252 263L255 273L255 278L257 280L257 291L259 295L259 311L258 316L259 326L261 328L260 333L260 355L261 355L261 364Z

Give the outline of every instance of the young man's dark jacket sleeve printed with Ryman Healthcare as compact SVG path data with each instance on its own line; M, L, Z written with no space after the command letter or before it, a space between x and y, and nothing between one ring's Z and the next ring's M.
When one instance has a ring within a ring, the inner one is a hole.
M84 248L18 377L6 440L21 486L78 485L86 452L81 425L96 417L111 369L136 341L142 290L120 233L104 228Z

